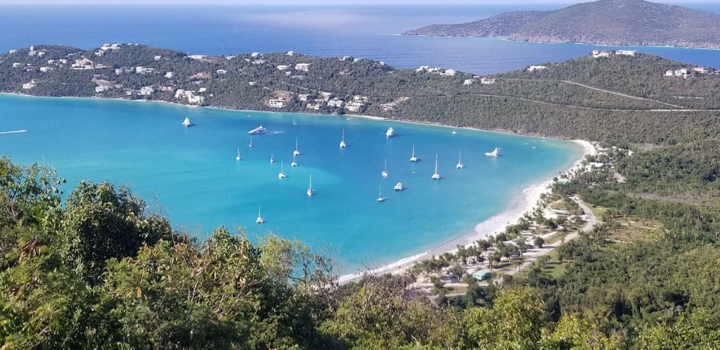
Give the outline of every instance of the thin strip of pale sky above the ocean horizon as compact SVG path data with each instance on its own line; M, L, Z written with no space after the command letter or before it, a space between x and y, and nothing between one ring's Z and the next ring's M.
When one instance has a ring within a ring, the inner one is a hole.
M575 4L587 0L306 0L302 6L308 4ZM720 0L654 0L665 4L698 4L713 3ZM161 5L161 4L237 4L237 5L280 5L298 6L298 1L293 0L0 0L2 4L123 4L123 5Z

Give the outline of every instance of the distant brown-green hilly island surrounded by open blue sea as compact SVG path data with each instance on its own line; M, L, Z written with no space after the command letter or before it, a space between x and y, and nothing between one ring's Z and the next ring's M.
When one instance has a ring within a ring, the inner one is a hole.
M717 49L720 15L643 0L600 0L554 11L505 12L475 22L432 24L402 35Z

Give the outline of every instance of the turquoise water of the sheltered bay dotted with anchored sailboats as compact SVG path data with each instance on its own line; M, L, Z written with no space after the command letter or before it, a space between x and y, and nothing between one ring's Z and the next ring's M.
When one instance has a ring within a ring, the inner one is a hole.
M196 126L181 127L185 116ZM253 136L249 148L247 131L258 125L279 133ZM390 126L397 136L386 139ZM0 134L0 155L52 164L68 179L66 192L81 179L127 184L176 229L199 236L218 225L242 226L253 236L272 231L326 248L343 272L467 233L582 155L567 141L474 130L451 135L449 127L357 117L0 95L0 132L12 130L27 132ZM338 146L343 130L345 149ZM302 155L293 168L296 139ZM418 163L408 161L413 143ZM495 146L502 157L483 155ZM455 168L459 151L462 170ZM436 153L440 181L431 180ZM384 159L387 179L380 174ZM305 194L310 174L314 197ZM392 190L397 181L404 192ZM378 186L387 201L376 202ZM258 205L264 225L255 223Z

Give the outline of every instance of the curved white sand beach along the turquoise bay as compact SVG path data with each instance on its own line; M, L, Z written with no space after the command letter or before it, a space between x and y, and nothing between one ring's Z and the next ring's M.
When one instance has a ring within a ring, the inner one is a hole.
M582 160L585 159L585 156L597 154L595 146L587 140L572 140L572 142L582 146L582 157L572 163L572 166L568 169L562 171L563 173L570 173L576 169L580 169ZM549 186L551 184L552 178L539 181L524 188L517 197L513 199L513 202L505 208L505 210L480 223L477 223L472 232L450 238L449 240L433 246L433 248L430 248L427 251L423 251L422 253L417 253L412 256L406 256L400 260L379 266L369 271L344 274L339 278L338 282L341 284L352 282L366 274L400 274L405 272L405 270L413 266L413 264L418 261L430 259L432 256L438 256L443 253L454 253L457 251L457 246L469 246L474 241L487 238L488 235L492 235L498 231L501 232L505 230L506 226L516 224L526 212L534 210L534 208L538 205L542 194L550 192Z

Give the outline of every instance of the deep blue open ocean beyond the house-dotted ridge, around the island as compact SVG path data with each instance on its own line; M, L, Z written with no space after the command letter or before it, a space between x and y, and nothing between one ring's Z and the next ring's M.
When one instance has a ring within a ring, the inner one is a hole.
M89 49L103 42L139 42L191 54L294 50L310 55L372 58L399 68L430 65L469 73L498 73L574 58L598 47L397 34L425 24L469 22L500 12L562 6L567 5L0 5L0 51L37 44ZM683 6L720 12L720 4ZM636 49L720 67L720 50Z

